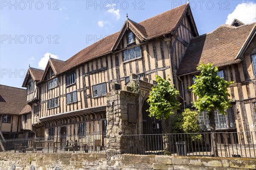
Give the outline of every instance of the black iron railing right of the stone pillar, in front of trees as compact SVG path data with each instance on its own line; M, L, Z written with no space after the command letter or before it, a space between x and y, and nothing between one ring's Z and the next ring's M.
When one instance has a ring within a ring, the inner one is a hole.
M256 132L216 133L218 156L256 157ZM122 135L123 153L211 156L211 133Z

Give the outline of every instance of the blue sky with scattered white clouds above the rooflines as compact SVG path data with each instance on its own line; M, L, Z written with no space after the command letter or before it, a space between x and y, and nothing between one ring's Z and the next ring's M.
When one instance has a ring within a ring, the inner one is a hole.
M49 54L66 60L122 28L126 13L140 22L185 0L0 0L0 84L20 88L26 71L44 68ZM190 0L199 34L234 18L256 22L256 0Z

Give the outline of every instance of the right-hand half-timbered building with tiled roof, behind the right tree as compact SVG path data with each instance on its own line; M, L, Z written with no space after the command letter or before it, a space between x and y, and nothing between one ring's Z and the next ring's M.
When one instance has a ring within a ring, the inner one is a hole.
M218 76L234 82L228 88L232 107L227 109L227 115L215 110L216 130L255 131L256 23L243 24L234 20L233 25L224 24L211 33L191 39L177 71L185 107L192 108L191 103L196 99L188 87L199 74L196 68L201 63L218 66ZM210 130L207 111L199 114L198 121L202 130ZM250 135L247 139L250 140Z

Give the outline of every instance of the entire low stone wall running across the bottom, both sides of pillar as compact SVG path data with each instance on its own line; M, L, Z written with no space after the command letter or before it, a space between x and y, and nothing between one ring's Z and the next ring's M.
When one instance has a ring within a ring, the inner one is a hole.
M256 159L105 153L0 153L0 169L12 170L255 170ZM111 166L110 166L111 165Z

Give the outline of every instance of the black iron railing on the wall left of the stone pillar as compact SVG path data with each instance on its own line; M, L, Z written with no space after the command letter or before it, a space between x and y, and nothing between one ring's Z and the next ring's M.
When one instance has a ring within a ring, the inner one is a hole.
M1 141L4 152L13 153L104 153L105 133L84 136L38 136Z

